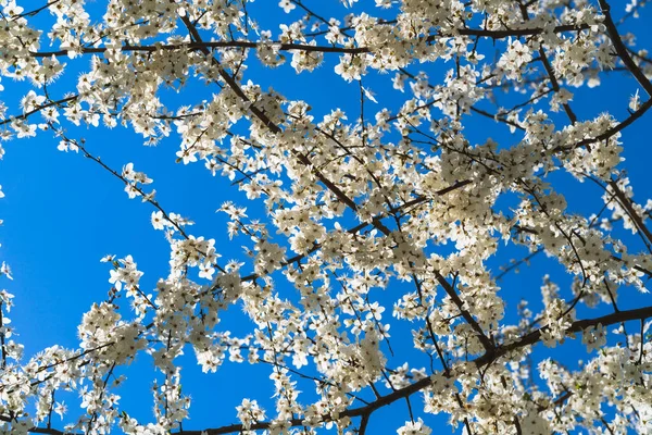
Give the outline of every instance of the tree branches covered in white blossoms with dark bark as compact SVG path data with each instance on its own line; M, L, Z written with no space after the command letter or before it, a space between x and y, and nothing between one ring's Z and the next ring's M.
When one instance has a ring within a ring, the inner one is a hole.
M0 135L48 136L122 182L151 209L170 273L143 288L137 259L105 257L111 293L84 314L78 347L36 356L22 355L0 291L2 433L362 435L397 402L399 434L430 434L432 414L465 434L651 433L652 202L635 198L620 157L623 130L652 107L652 58L623 34L645 1L85 3L0 0L3 84L29 88L2 104ZM325 70L358 104L313 109L309 91L265 90L248 69ZM615 74L638 90L582 116L574 94L599 99ZM199 98L197 82L210 89ZM471 139L488 122L500 142ZM101 124L174 141L170 159L259 202L250 217L214 197L242 256L224 261L193 216L159 202L139 162L93 153L83 135ZM567 204L561 173L601 208ZM535 256L572 279L505 288ZM229 311L244 334L221 323ZM189 430L184 351L206 373L263 365L274 390L242 397L233 424ZM156 380L150 421L115 393L139 358ZM58 427L62 391L82 408Z

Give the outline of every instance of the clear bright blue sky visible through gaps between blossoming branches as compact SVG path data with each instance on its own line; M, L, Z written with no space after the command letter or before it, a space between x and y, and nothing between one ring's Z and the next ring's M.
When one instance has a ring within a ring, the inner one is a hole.
M312 3L325 16L342 15L342 8L335 1L327 5ZM102 5L103 2L98 0L92 8ZM361 8L363 5L358 7ZM276 1L258 1L251 4L250 11L260 17L262 27L274 32L277 27L273 23L287 21L276 7ZM628 27L639 36L640 46L645 46L652 39L652 30L644 24L651 17L649 12L643 10L643 16ZM487 45L485 49L491 50L490 41L482 44ZM306 99L317 116L341 108L350 113L349 119L352 120L359 114L358 84L348 84L334 75L336 59L327 54L325 64L317 71L299 76L292 73L289 64L269 72L262 71L254 62L246 78L261 84L264 89L273 86L290 99ZM88 62L89 59L67 61L71 71L50 91L59 96L74 89L76 71L88 67ZM432 80L437 82L437 73L451 65L426 67ZM379 104L367 102L369 116L383 107L396 108L400 103L401 95L391 89L392 75L372 73L364 77L364 86L375 90L379 101ZM16 101L28 90L27 84L8 79L3 79L2 84L4 91L0 92L0 100L10 107L10 113L16 113ZM570 89L575 92L573 107L581 120L591 119L607 109L616 117L624 119L629 97L636 89L636 82L631 77L610 73L600 88ZM210 98L212 92L217 92L217 88L191 83L181 94L166 91L164 98L174 110L178 105ZM648 187L648 162L652 156L645 126L649 116L630 126L623 135L626 167L635 186L636 199L643 203L651 192ZM562 120L561 116L556 119ZM140 136L123 127L111 130L80 127L70 133L74 138L84 137L89 152L101 157L115 170L134 162L138 171L143 171L154 179L153 187L162 207L195 221L196 224L189 228L190 234L215 238L223 260L242 257L240 245L244 240L228 239L225 215L215 213L215 210L226 200L248 207L250 215L262 216L263 209L248 201L227 178L211 176L203 164L175 163L175 152L178 150L175 135L156 147L145 147ZM505 144L515 144L519 138L518 135L512 136L505 127L479 116L473 117L467 136L477 144L488 137ZM153 289L158 278L166 276L168 271L168 244L150 223L153 208L139 200L129 200L123 190L124 186L111 174L80 154L58 151L57 145L58 140L47 132L34 139L13 140L5 144L7 153L0 162L0 184L7 195L0 201L0 219L4 220L0 227L0 260L10 263L14 276L12 282L3 281L2 285L16 296L11 318L18 340L25 345L26 356L55 344L72 348L78 345L77 324L83 313L91 303L104 300L111 287L108 283L110 265L99 261L103 256L114 253L122 258L131 254L139 270L145 272L141 281L143 289ZM580 184L562 175L554 175L551 181L555 188L566 195L570 210L591 213L601 208L601 194L595 186ZM509 206L505 203L505 208ZM523 249L506 248L502 257L493 261L497 265L504 264L511 257L521 258L523 254ZM512 273L500 283L502 295L509 302L507 315L514 315L521 298L540 299L539 286L546 273L560 283L562 295L569 295L569 277L554 261L540 254L532 260L529 270ZM401 286L392 283L388 290L374 294L373 298L390 304L400 297ZM286 288L286 291L291 293L291 288ZM638 295L631 288L625 289L619 300L622 309L642 303L649 304L650 297ZM538 311L535 307L534 311ZM389 311L388 307L386 315L389 315ZM584 310L580 313L589 312ZM239 307L231 307L224 315L224 327L233 328L238 334L248 331ZM397 339L392 339L392 343L404 344L394 349L398 353L396 361L399 361L411 352L408 325L397 325L393 334ZM401 341L400 337L408 339ZM574 361L581 355L580 351L560 353L560 358ZM268 368L226 362L216 374L203 375L193 363L193 358L192 352L188 351L180 360L185 376L184 390L193 398L191 420L185 424L185 428L214 427L235 422L235 406L240 403L242 397L258 399L273 413L269 398L273 384L267 378ZM143 421L152 418L149 391L153 380L152 368L149 357L141 355L124 372L128 381L118 391L125 410ZM310 391L311 385L303 385L305 388L300 389L308 401L314 396ZM71 397L65 400L71 417L78 414L80 409L76 407L75 399ZM412 400L413 406L418 408L421 398L414 396ZM402 424L406 418L405 402L388 409L388 412L374 414L368 433L393 433ZM429 417L425 420L441 424L447 418Z

